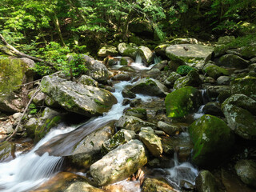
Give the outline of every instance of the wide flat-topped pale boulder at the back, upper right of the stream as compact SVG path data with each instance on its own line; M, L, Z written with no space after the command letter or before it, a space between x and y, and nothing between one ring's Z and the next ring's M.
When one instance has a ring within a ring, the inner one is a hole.
M174 62L187 63L192 66L202 67L214 48L212 46L202 46L197 44L180 44L168 46L166 56Z

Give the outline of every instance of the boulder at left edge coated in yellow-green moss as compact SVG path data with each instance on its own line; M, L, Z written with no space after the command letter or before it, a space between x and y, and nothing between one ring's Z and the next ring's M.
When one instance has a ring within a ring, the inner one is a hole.
M26 106L26 97L24 94L19 94L22 91L19 85L33 81L32 67L34 67L34 61L29 58L0 57L1 111L20 112ZM23 87L22 89L25 91Z

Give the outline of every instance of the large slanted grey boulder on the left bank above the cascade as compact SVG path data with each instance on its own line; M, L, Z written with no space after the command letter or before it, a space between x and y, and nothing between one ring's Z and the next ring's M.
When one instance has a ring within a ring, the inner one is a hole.
M65 110L89 117L107 112L117 103L107 90L66 81L58 76L42 78L41 90Z

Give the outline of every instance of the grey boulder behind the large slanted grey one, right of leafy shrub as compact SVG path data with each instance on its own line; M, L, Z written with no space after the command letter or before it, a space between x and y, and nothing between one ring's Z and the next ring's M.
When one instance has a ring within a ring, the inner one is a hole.
M82 58L86 62L86 74L91 78L94 78L97 82L106 82L109 78L109 70L107 70L106 66L102 62L98 62L94 58L90 58L87 55L83 55Z

